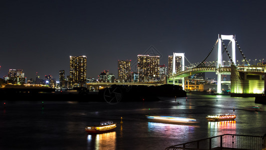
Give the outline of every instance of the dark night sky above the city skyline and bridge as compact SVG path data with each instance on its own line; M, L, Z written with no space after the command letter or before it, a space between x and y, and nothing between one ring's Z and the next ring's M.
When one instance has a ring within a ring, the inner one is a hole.
M0 0L0 78L23 69L27 79L87 56L87 77L132 60L153 45L202 61L218 34L236 34L247 59L266 59L266 0ZM238 51L239 52L239 51Z

